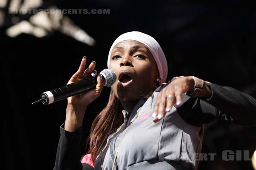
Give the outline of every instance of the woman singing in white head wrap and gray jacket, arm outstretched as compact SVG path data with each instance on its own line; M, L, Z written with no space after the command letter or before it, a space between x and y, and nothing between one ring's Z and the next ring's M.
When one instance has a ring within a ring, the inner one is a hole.
M90 77L86 57L68 83ZM106 107L93 121L87 154L81 156L81 131L87 106L100 96L96 88L67 99L54 170L196 170L204 124L222 119L256 125L256 99L234 88L197 77L166 83L167 61L151 36L132 31L110 48L108 68L117 81Z

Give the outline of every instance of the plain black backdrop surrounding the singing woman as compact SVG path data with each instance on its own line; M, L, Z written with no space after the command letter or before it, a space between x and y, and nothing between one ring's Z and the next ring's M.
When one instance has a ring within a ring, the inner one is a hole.
M0 28L3 148L7 170L51 170L65 120L66 100L32 106L44 91L65 85L83 56L107 67L113 41L127 31L141 31L162 46L174 76L200 77L256 97L256 2L244 0L59 0L44 1L61 9L110 9L110 14L66 14L96 40L91 47L54 31L44 38L5 34L11 16ZM110 88L87 108L85 140L90 124L104 108ZM256 127L216 120L205 125L202 153L216 153L198 170L252 170L250 161L224 161L223 150L256 150ZM83 144L83 147L86 145ZM82 151L85 153L85 150ZM209 159L209 156L208 156Z

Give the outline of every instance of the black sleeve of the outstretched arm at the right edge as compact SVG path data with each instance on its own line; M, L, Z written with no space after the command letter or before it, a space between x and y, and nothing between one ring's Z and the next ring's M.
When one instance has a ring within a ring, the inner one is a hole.
M256 125L256 99L231 87L205 83L212 91L209 99L190 98L177 108L187 123L201 126L221 119L242 126Z

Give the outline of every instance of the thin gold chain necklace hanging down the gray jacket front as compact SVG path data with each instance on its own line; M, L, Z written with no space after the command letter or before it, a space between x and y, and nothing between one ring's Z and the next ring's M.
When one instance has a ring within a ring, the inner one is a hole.
M140 107L140 110L141 110L141 108L142 108L142 107ZM132 121L131 124L127 127L127 130L125 131L125 134L122 136L122 139L121 139L121 141L120 141L120 143L119 143L119 146L118 146L118 148L117 148L117 150L116 150L116 155L115 155L115 158L114 158L114 161L113 161L112 170L114 170L114 167L115 167L115 164L116 164L117 153L118 153L119 148L120 148L120 146L121 146L121 144L122 144L122 140L124 139L126 133L127 133L128 130L130 129L131 125L132 125L132 124L135 122L135 120L137 119L137 117L138 117L138 115L139 115L139 113L140 113L140 110L139 110L139 111L137 112L137 114L134 116L133 121ZM113 135L113 137L111 138L111 140L116 136L117 132L121 129L121 127L122 127L123 125L124 125L124 123L116 130L116 133ZM110 140L110 141L111 141L111 140ZM108 143L110 143L110 142L108 142ZM104 153L104 151L105 151L106 148L108 148L108 147L105 147L104 150L102 150L102 153ZM101 153L101 155L100 155L100 165L101 165L101 167L102 167L102 170L104 170L104 169L103 169L103 166L102 166L102 153Z

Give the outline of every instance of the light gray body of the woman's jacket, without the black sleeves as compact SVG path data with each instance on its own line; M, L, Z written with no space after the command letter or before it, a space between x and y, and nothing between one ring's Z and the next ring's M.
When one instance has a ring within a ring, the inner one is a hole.
M126 128L121 128L113 139L112 136L115 133L108 136L105 147L108 145L109 147L102 159L104 170L111 170L116 149L124 134L116 159L116 169L197 169L199 163L197 155L201 153L203 126L187 124L181 119L175 107L161 121L153 122L151 115L158 93L155 91L153 102L151 97L148 98L141 106L141 110L137 108L142 101L138 102L136 111L132 112L131 116L133 117L138 110L140 113L137 119L133 119L135 122L126 134L128 124L131 122L128 121L126 112L122 111ZM183 96L183 102L187 99L189 96Z

